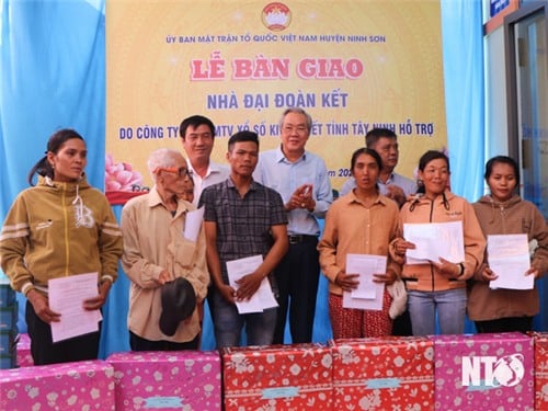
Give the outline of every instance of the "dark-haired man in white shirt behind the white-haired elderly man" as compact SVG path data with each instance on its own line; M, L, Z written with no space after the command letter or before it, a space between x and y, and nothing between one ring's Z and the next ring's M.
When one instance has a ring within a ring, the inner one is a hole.
M209 118L193 115L183 119L179 127L179 135L186 152L189 175L194 181L192 204L196 206L202 191L209 185L227 180L230 170L227 165L215 163L209 159L215 142L215 125Z

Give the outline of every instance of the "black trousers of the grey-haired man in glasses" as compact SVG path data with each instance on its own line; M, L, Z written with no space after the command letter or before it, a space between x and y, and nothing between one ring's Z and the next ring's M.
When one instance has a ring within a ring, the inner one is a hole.
M274 271L279 290L274 344L284 343L287 311L292 342L312 341L316 296L320 281L317 246L316 237L302 236L299 242L289 244L289 250Z

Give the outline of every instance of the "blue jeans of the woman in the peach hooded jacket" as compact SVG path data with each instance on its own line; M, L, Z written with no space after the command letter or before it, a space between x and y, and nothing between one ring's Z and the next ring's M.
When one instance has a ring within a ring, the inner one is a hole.
M465 288L446 292L408 290L408 309L413 335L435 334L436 315L442 334L465 332Z

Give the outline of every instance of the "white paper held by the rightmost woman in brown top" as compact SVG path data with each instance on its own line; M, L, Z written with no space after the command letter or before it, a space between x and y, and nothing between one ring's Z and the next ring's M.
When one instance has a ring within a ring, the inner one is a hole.
M534 276L525 275L530 267L526 235L487 236L487 254L489 267L499 276L490 288L533 289Z

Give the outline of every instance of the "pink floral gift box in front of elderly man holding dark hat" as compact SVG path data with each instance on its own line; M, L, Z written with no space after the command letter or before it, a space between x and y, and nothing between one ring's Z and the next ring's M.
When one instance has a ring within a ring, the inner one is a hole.
M116 410L219 411L218 352L128 352L110 355Z

